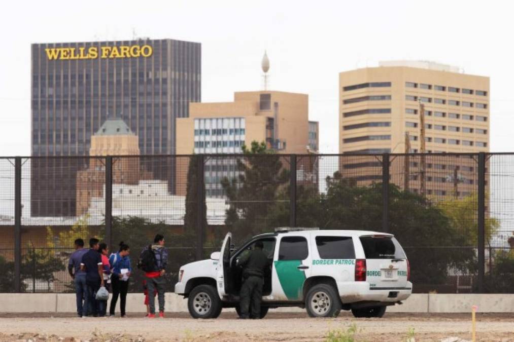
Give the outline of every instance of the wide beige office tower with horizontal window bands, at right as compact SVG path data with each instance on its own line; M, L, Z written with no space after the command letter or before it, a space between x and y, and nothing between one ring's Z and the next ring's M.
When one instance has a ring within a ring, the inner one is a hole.
M379 67L341 72L339 151L341 154L419 152L419 114L423 104L427 153L487 152L489 96L488 77L465 74L456 67L431 62L383 62ZM358 174L358 180L381 179L376 169L380 163L376 159L342 159L342 171ZM450 156L441 157L438 163L427 162L427 193L449 195L457 188L453 185L458 185L459 195L471 192L476 187L473 165L473 161L465 158L455 161ZM418 160L413 159L406 167L394 164L392 167L397 171L396 178L391 175L394 182L405 184L403 177L409 174L411 182L406 185L418 190ZM452 187L437 182L450 183Z

